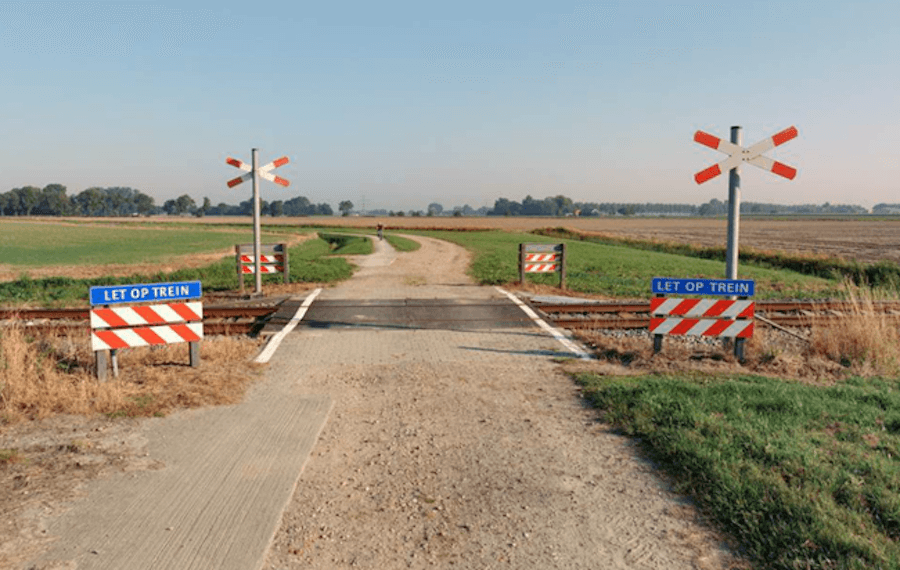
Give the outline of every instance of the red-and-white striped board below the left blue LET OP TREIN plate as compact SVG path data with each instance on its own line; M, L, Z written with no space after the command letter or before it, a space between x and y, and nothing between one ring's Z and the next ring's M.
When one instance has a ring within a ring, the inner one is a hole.
M200 302L91 309L91 348L197 342L203 338L202 321Z

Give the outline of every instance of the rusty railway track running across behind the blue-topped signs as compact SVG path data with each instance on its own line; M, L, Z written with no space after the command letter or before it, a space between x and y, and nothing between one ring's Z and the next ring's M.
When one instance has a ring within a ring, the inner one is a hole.
M252 334L262 329L283 299L255 304L208 305L203 308L206 334ZM650 326L649 302L533 303L543 317L567 329L641 329ZM844 301L758 301L756 314L782 327L808 328L841 322L860 312ZM900 323L900 302L866 304L871 310ZM18 320L31 329L63 332L87 329L90 309L0 309L0 321Z

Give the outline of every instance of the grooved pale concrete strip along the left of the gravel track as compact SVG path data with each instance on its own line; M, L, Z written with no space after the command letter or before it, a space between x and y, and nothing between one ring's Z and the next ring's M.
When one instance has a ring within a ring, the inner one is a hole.
M165 467L95 482L37 567L258 568L331 408L269 382L239 405L155 420L146 436Z

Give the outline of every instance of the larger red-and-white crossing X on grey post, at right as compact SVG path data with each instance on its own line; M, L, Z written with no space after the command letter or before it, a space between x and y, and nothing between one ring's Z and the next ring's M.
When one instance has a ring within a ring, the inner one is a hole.
M747 162L788 180L793 180L797 175L796 168L763 156L763 153L796 138L797 134L796 127L788 127L753 146L744 148L741 146L741 127L731 127L731 142L703 131L694 133L695 142L728 155L728 158L722 162L694 175L697 184L703 184L722 172L728 171L728 254L725 258L725 277L728 279L737 279L738 233L741 215L741 163Z

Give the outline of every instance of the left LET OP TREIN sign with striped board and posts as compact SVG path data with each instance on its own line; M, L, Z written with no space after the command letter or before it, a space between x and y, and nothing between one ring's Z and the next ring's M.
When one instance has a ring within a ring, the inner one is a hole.
M97 378L106 380L110 360L113 374L118 376L116 351L135 346L187 342L191 366L200 366L203 303L171 301L202 297L200 281L91 287L91 349L95 354ZM111 307L160 301L154 305Z

